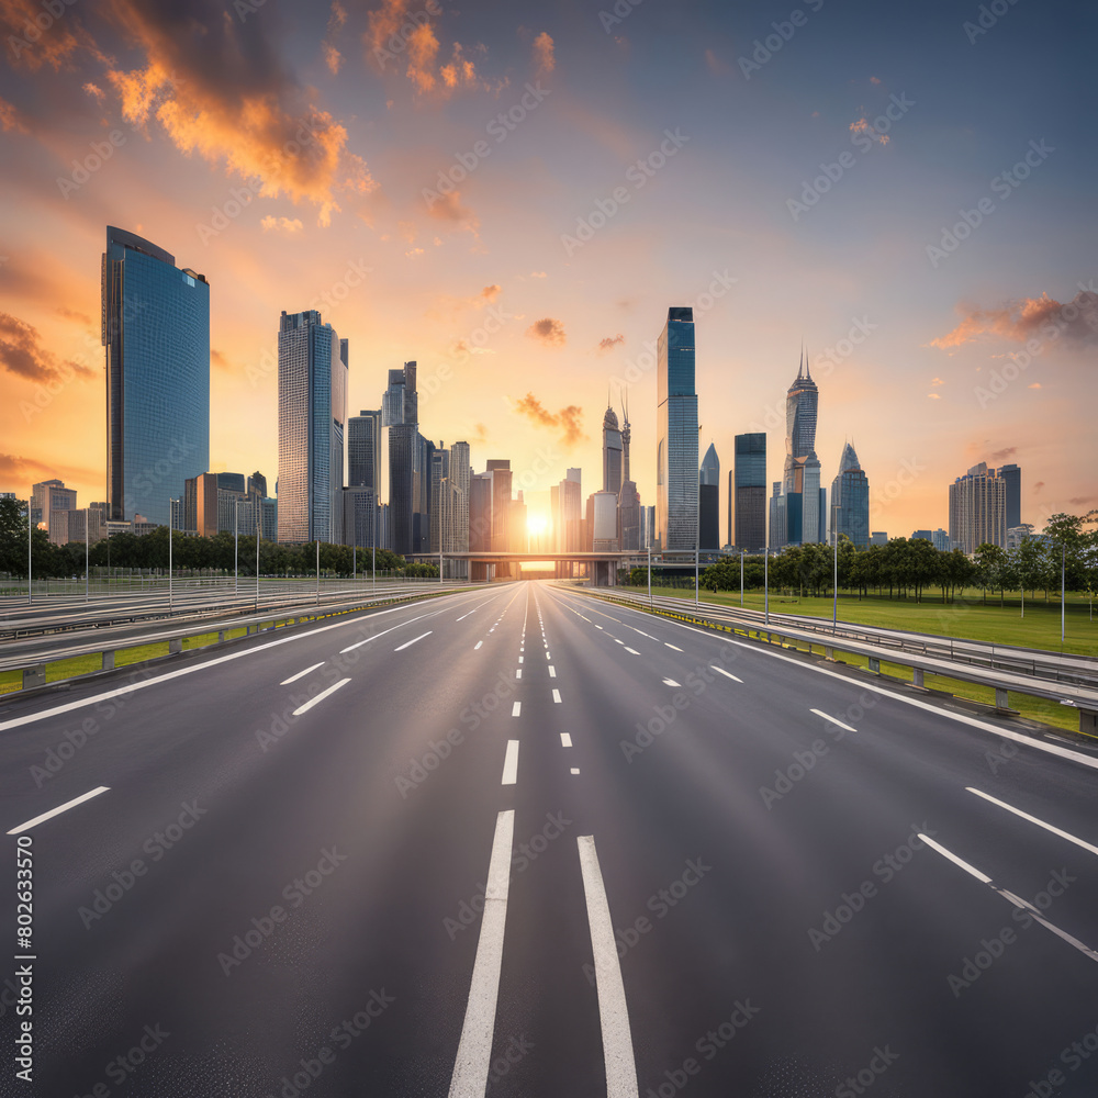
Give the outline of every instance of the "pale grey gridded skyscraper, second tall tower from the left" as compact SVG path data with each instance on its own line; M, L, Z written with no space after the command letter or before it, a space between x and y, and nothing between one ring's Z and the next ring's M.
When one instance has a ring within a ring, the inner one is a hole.
M315 309L278 333L278 539L343 541L347 340Z

